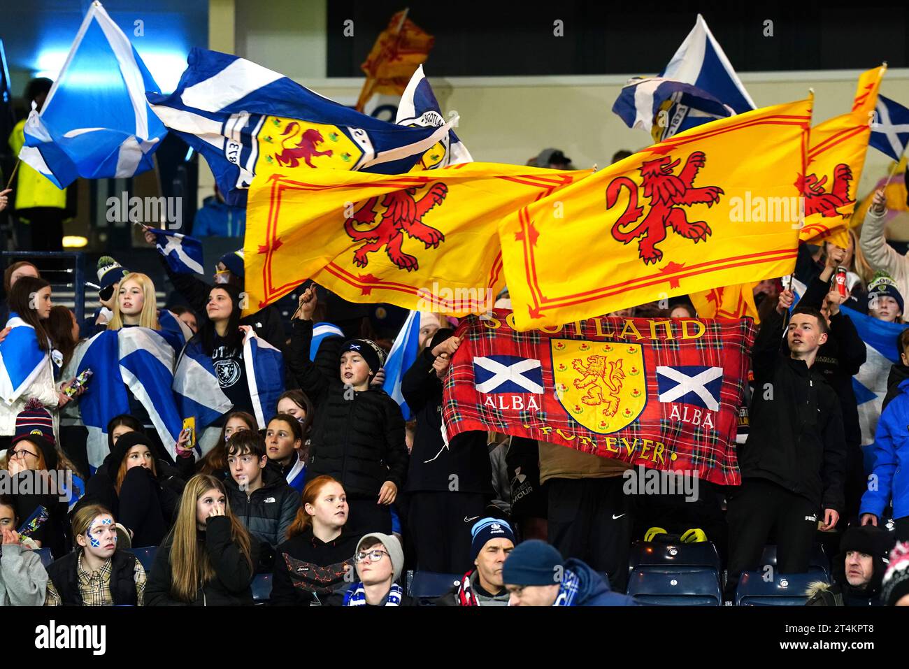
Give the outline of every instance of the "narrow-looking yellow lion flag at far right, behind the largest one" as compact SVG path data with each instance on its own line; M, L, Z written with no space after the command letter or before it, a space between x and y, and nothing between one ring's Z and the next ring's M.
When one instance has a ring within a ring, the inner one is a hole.
M811 129L808 161L796 187L804 192L803 242L833 242L849 247L849 222L855 191L868 151L874 107L887 66L864 72L858 79L852 110ZM804 175L804 176L803 176Z

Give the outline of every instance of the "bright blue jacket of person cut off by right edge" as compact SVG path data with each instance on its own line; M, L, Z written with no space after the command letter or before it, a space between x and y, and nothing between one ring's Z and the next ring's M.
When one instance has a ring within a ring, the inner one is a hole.
M859 514L874 514L881 518L892 497L894 518L909 515L909 379L901 383L899 389L900 394L887 404L877 424L874 434L877 485L869 485L862 495Z

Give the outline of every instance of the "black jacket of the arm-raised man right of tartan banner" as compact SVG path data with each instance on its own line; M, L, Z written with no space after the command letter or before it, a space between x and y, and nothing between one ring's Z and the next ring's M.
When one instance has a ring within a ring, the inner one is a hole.
M751 432L739 450L742 478L764 478L819 509L844 510L846 446L839 398L824 374L781 352L774 309L754 341Z

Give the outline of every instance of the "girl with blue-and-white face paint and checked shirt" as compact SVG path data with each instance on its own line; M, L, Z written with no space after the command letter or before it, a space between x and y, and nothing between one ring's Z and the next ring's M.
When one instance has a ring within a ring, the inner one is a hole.
M118 526L100 504L73 517L75 550L47 567L47 606L142 606L145 569L117 547Z

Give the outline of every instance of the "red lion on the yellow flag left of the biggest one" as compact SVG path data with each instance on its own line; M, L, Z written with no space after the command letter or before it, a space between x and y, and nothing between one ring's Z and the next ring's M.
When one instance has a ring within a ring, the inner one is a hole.
M405 254L401 249L404 244L404 234L417 239L426 245L438 248L440 242L445 241L443 235L435 227L426 225L423 217L435 205L441 205L448 195L448 186L436 182L426 188L423 197L416 199L417 186L411 186L399 191L392 191L385 195L382 206L385 212L379 224L368 230L357 230L354 224L373 225L375 223L375 203L378 196L366 200L365 204L357 209L353 216L344 222L345 233L355 242L365 241L354 252L354 264L365 267L369 263L367 254L385 247L388 257L400 269L412 272L419 269L415 256Z

